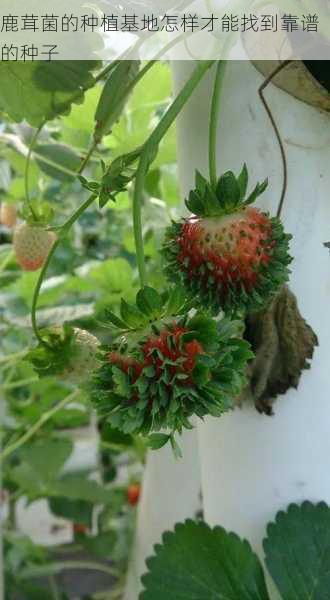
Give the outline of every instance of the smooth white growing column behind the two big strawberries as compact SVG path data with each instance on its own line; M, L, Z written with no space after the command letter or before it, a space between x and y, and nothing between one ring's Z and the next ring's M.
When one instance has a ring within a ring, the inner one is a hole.
M175 87L185 83L191 62L175 62ZM276 212L282 185L279 148L258 98L263 76L247 61L230 62L218 131L219 174L247 163L251 185L269 177L259 205ZM182 197L198 168L207 174L208 120L213 74L201 83L178 121ZM161 533L194 516L200 505L210 525L247 538L262 556L265 526L291 502L330 503L330 119L270 85L266 91L284 139L288 191L282 213L293 234L290 287L304 318L319 338L312 368L298 390L279 397L273 417L253 406L207 418L183 440L184 458L164 448L148 457L137 537L125 600L137 600L145 558ZM274 593L275 598L275 593Z

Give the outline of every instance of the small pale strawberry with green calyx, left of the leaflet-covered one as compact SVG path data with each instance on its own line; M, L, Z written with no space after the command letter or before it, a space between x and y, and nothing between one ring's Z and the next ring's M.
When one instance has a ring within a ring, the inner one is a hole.
M57 375L63 381L84 384L99 366L98 339L83 329L64 325L42 332L44 344L27 356L40 376Z

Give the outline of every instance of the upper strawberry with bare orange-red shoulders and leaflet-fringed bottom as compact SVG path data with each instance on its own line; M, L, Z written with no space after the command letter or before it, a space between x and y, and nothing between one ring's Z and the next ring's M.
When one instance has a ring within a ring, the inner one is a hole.
M166 272L191 297L215 313L251 312L267 303L288 279L288 242L279 219L251 207L267 181L245 198L246 166L228 171L216 189L196 175L186 205L193 213L166 232Z

